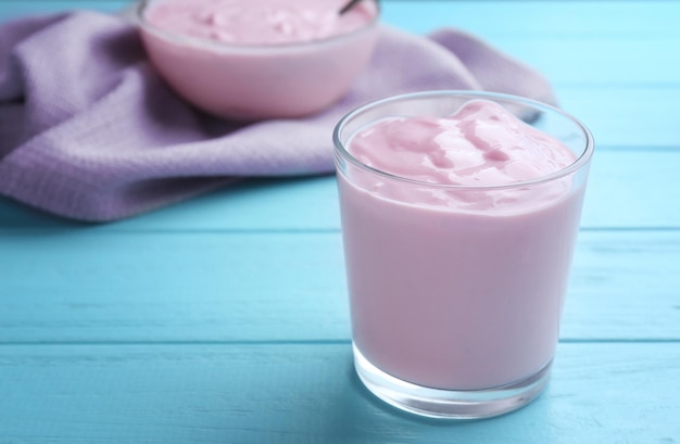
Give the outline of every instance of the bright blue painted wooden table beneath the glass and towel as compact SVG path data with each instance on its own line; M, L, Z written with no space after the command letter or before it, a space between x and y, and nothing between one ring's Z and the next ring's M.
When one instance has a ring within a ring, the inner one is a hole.
M0 20L126 1L1 0ZM0 443L680 443L680 2L386 0L540 69L597 141L552 382L395 411L353 373L335 177L81 225L0 198Z

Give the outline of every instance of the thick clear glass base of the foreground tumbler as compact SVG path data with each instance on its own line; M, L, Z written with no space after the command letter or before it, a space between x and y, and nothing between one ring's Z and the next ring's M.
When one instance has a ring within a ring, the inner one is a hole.
M386 403L429 418L481 419L516 410L541 394L552 361L521 381L486 390L431 389L402 381L370 364L354 347L354 368L366 388Z

